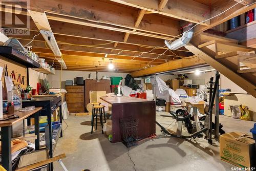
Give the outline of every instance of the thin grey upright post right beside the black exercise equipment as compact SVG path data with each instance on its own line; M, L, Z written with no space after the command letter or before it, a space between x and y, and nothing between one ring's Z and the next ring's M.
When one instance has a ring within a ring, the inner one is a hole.
M219 71L216 70L215 76L219 75ZM220 81L219 81L220 82ZM220 84L217 85L216 89L216 95L215 95L215 138L219 139L219 114L220 114L220 108L219 108L219 89Z

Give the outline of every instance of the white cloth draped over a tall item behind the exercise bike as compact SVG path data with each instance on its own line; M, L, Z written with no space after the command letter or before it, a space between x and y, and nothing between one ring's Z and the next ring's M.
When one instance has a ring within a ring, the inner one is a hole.
M166 83L158 76L156 76L156 96L157 98L164 99L167 102L181 103L181 100L175 91L168 88Z

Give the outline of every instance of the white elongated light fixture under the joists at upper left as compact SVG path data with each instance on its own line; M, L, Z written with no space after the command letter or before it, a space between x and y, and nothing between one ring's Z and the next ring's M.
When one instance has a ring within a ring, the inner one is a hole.
M42 37L44 37L44 39L46 40L47 45L50 47L50 49L52 50L54 55L61 57L61 52L59 50L59 47L58 47L57 41L53 35L53 32L46 31L46 30L40 30L40 33L42 34Z

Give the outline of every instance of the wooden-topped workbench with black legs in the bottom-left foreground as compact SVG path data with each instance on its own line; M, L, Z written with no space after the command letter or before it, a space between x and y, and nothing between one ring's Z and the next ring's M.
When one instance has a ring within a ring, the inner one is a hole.
M16 119L9 119L5 121L0 121L0 127L2 132L1 137L1 143L2 143L2 166L6 170L12 170L12 163L11 163L11 127L13 124L23 121L27 117L31 115L35 115L35 135L37 136L37 139L35 140L35 147L36 149L39 149L39 114L38 112L42 108L35 108L31 111L24 111L24 112L15 112L16 115L19 116L19 118Z

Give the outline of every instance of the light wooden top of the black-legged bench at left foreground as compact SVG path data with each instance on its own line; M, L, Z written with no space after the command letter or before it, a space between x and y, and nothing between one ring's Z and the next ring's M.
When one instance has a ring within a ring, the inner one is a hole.
M23 119L26 119L27 117L35 114L36 112L40 111L41 109L42 109L42 107L38 107L31 111L14 112L14 114L19 116L19 118L0 121L0 127L11 126L11 125L15 124L16 122L22 121Z

